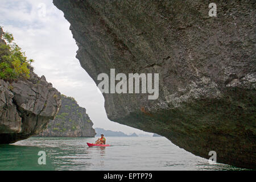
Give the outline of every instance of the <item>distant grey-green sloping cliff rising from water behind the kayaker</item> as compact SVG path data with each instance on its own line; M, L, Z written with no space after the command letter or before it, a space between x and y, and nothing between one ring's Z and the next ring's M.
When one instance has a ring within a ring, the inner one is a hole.
M86 110L80 107L74 98L61 95L61 108L55 119L49 122L47 129L38 137L94 137Z

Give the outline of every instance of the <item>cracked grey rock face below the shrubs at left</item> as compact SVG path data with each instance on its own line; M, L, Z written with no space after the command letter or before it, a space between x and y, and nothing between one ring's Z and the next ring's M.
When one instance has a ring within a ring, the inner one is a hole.
M0 38L2 28L0 28ZM0 44L5 44L0 39ZM0 144L14 143L44 130L58 113L60 93L30 68L30 78L0 79Z

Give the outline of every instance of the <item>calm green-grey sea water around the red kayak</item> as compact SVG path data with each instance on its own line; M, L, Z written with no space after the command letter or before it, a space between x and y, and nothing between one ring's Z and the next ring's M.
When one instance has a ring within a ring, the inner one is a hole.
M209 164L164 137L106 137L109 147L87 146L97 138L31 137L0 145L0 170L242 170ZM46 165L38 164L39 151L46 152Z

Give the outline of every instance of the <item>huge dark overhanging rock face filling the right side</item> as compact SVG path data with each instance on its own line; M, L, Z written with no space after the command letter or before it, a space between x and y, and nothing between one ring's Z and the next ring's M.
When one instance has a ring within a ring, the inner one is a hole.
M109 119L217 162L256 168L255 2L53 0L82 68L159 73L159 98L104 94Z

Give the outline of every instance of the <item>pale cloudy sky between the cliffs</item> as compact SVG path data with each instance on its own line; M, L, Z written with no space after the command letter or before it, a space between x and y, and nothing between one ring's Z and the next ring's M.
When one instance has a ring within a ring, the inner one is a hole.
M52 0L1 0L0 17L3 31L13 34L28 59L35 60L34 72L46 76L61 94L74 97L85 107L94 128L146 134L108 119L104 97L76 59L78 47L70 24Z

